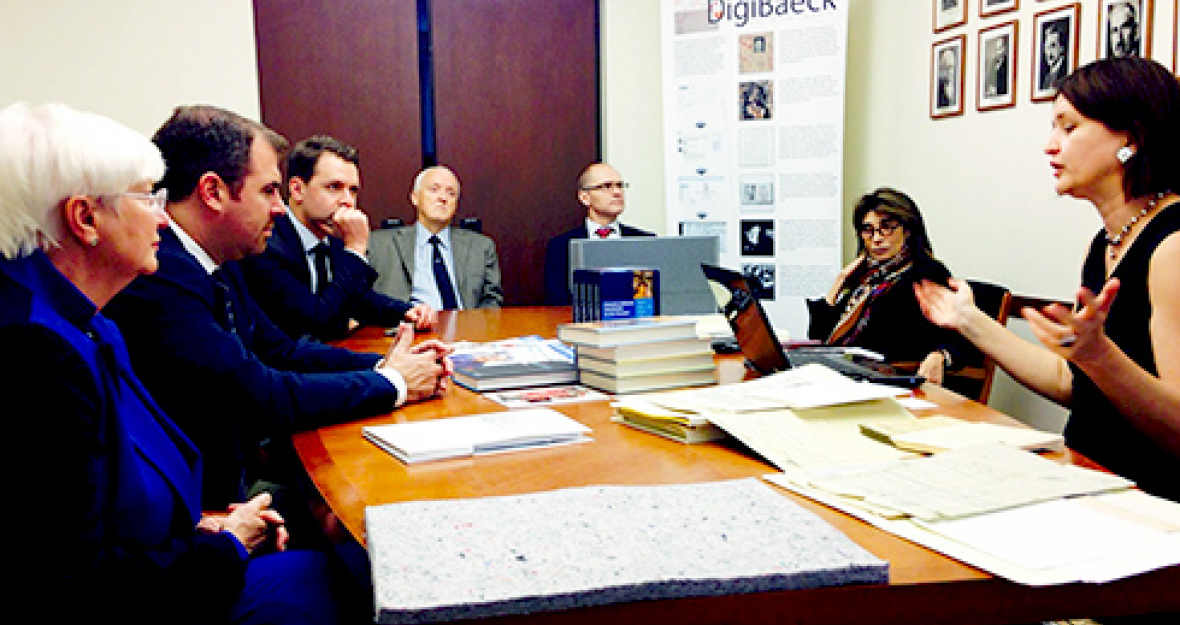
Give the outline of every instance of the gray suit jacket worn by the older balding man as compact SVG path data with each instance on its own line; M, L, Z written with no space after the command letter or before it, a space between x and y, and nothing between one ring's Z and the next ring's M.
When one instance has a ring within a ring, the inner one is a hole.
M389 297L409 300L414 282L414 245L418 228L407 225L373 232L369 262L379 276L374 289ZM500 259L491 237L463 228L451 228L451 259L458 276L455 290L463 308L499 308Z

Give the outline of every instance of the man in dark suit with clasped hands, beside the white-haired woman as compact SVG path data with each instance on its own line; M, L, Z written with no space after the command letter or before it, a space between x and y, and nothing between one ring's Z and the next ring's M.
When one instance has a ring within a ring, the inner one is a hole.
M294 467L261 462L264 440L276 452L268 460L290 460L294 430L386 413L445 388L448 348L411 348L408 324L381 358L291 340L250 297L235 261L264 250L284 213L282 137L229 111L184 106L152 140L166 163L159 186L171 225L160 232L159 270L132 282L107 312L136 373L204 456L205 509L241 501L256 481L293 479Z

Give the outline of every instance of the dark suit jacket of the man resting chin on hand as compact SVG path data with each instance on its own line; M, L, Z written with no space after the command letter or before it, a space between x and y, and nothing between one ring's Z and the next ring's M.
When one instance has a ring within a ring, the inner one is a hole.
M293 338L320 341L342 338L348 320L386 328L401 323L409 303L374 291L376 271L339 238L327 241L332 282L319 294L312 291L307 252L288 215L275 218L264 252L238 263L250 295L270 321Z

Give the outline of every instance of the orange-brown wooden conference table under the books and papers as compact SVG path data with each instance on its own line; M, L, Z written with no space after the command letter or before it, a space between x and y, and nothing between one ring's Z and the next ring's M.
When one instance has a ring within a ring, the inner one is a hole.
M537 334L556 336L570 309L506 308L440 314L444 341L491 341ZM389 338L365 328L342 344L384 353ZM717 358L722 382L745 376L736 356ZM939 413L961 419L1011 422L986 406L926 384L919 392ZM361 427L500 410L503 407L453 387L446 396L402 407L388 415L295 436L313 482L348 531L365 542L365 507L412 500L510 495L592 485L689 483L774 473L740 445L681 445L610 421L607 402L556 406L594 429L594 442L478 459L406 466L366 441ZM1066 452L1062 460L1088 463ZM1028 587L877 529L860 520L784 492L804 507L890 562L890 583L729 597L638 601L491 620L529 623L774 623L807 624L984 624L1034 623L1053 618L1180 611L1180 566L1113 584Z

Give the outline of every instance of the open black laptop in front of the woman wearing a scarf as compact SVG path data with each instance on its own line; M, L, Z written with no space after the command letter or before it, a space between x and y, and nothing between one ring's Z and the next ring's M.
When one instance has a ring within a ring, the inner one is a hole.
M716 284L713 294L717 308L729 322L734 338L746 356L746 363L754 370L769 374L793 367L819 363L853 380L913 388L925 379L905 375L884 364L870 366L856 362L841 348L817 347L786 350L774 335L774 328L766 316L762 303L754 295L748 278L732 269L701 263L701 270L710 283Z

